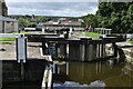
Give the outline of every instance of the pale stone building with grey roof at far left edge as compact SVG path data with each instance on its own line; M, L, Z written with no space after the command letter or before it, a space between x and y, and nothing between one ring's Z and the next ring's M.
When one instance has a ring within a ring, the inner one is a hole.
M8 7L4 0L0 0L0 33L18 31L19 21L8 18Z

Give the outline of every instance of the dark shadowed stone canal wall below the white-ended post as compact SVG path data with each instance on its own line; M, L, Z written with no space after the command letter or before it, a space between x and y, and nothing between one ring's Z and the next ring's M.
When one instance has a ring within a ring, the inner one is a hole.
M27 60L23 65L23 79L21 77L21 65L16 60L2 61L2 83L10 83L14 81L41 82L47 62L40 60Z

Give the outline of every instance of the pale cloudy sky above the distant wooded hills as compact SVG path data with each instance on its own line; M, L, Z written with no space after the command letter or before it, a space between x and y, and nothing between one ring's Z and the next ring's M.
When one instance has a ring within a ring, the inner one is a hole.
M9 14L81 17L95 14L96 0L6 0Z

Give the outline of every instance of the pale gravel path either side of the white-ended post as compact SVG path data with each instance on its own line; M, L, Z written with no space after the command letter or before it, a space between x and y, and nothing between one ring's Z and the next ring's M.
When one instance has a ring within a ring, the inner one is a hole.
M40 53L41 43L28 42L27 53L28 58L42 58ZM0 59L17 60L16 52L16 41L11 41L11 44L1 44L0 49L6 49L6 51L0 50Z

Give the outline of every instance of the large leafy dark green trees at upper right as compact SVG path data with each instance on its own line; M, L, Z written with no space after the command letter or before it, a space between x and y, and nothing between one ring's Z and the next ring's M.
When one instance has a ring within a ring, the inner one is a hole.
M115 33L133 32L132 2L101 2L96 12L99 27L112 29Z

